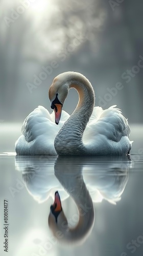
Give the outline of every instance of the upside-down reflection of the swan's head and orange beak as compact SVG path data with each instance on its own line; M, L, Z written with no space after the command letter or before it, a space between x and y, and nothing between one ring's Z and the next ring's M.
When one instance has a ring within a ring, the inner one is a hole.
M55 192L54 204L50 207L50 214L48 219L49 227L57 239L63 239L65 229L67 229L67 219L63 213L61 200L58 191Z

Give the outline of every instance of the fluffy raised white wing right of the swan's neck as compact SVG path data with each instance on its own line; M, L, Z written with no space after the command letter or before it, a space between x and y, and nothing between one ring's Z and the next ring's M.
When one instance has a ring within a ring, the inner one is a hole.
M95 107L86 126L83 141L93 143L104 136L107 140L118 142L123 136L130 135L130 127L121 110L110 106L107 110Z

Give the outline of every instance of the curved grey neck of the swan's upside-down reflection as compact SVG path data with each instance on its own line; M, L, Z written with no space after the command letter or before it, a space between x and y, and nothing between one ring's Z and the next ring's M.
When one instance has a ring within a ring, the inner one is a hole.
M69 165L67 165L67 161L69 161ZM64 157L59 158L54 167L55 176L78 207L78 214L74 214L71 218L77 225L74 228L69 228L64 217L61 219L57 230L62 232L62 239L65 242L83 242L94 224L94 207L81 174L81 166L79 165L79 168L74 171L73 168L73 159L67 160ZM64 216L63 212L62 215Z

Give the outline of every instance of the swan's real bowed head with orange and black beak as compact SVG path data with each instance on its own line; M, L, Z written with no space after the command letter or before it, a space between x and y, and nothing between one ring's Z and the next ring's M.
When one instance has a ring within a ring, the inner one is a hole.
M62 106L69 90L67 73L65 72L55 77L49 89L49 99L51 101L51 108L55 111L56 124L60 121Z

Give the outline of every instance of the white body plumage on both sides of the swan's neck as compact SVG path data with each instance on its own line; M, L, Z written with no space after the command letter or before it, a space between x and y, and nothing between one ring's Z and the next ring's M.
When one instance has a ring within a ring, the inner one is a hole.
M96 106L87 123L83 134L85 144L94 143L102 146L102 142L113 148L131 143L128 136L130 127L121 110L110 106L107 110ZM54 140L69 115L62 111L59 124L55 124L55 114L49 113L43 106L38 106L23 122L22 135L15 143L16 153L19 155L57 155ZM117 143L118 142L118 143ZM107 148L108 149L108 148Z

